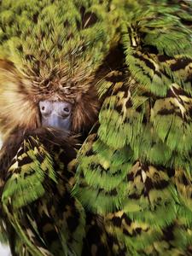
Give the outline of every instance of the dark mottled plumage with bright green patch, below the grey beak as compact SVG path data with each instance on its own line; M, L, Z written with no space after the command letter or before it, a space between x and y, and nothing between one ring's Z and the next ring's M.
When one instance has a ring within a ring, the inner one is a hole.
M7 236L12 255L111 256L111 246L119 246L103 217L71 195L76 140L67 136L45 128L29 132L1 173L1 241Z

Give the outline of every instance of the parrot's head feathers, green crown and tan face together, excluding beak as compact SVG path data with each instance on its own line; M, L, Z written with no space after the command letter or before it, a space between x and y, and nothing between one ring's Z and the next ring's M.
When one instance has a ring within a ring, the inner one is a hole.
M98 69L117 41L115 27L104 22L115 19L108 1L3 1L0 15L3 134L37 128L41 100L71 102L72 130L90 128L99 108Z

